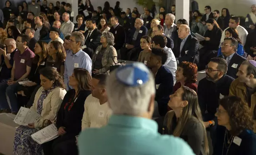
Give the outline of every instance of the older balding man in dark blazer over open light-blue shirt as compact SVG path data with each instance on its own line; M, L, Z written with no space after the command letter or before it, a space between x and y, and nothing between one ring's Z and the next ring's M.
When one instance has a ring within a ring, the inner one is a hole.
M199 42L196 38L190 35L188 25L180 25L178 29L178 41L173 48L173 53L176 57L177 64L182 61L199 62Z

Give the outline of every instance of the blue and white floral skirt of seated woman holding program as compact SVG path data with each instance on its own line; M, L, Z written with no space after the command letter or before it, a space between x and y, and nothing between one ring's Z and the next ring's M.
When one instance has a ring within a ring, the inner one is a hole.
M15 131L13 155L44 155L43 146L31 138L39 130L19 126Z

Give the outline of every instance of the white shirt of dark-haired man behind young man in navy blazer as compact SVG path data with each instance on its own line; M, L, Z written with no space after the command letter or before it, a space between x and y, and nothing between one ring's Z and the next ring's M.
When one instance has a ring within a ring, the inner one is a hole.
M177 70L177 62L176 62L175 55L173 54L173 51L171 48L167 48L165 46L163 50L168 53L167 60L163 66L165 66L167 69L171 71L171 73L173 74L173 82L174 82L173 84L175 84L176 83L175 72Z

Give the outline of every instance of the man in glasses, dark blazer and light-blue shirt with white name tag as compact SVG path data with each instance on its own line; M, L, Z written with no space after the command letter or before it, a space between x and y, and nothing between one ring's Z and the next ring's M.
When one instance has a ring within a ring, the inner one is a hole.
M221 43L221 52L223 55L218 56L226 60L228 64L227 75L234 79L237 78L238 68L242 62L246 60L244 57L237 54L237 47L237 40L232 37L227 37L224 39L224 42Z

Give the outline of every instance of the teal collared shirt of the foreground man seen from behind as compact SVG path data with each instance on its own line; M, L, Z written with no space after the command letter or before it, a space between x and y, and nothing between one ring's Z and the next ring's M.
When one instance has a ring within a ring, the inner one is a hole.
M157 123L143 117L112 115L100 129L85 129L78 138L80 155L194 155L184 140L161 135Z

